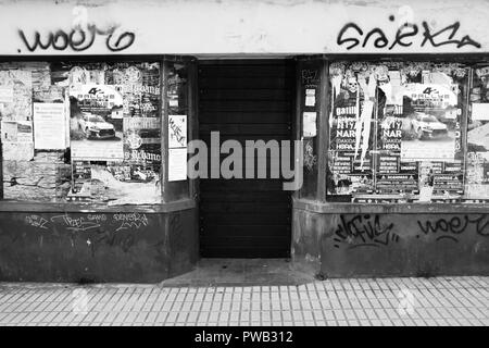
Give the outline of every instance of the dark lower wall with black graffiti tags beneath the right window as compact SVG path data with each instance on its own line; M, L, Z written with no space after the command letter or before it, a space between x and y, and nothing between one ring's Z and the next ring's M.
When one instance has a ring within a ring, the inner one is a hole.
M489 214L293 211L292 254L324 276L489 274Z

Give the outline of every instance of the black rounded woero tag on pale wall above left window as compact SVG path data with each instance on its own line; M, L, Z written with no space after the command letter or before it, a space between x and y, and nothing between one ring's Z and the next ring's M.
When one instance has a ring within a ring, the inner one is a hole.
M87 25L86 30L82 28L74 28L70 33L62 29L54 33L51 32L45 40L41 39L40 33L36 32L34 34L33 42L28 41L24 30L20 29L18 35L21 36L25 47L30 52L36 51L38 48L47 50L50 47L59 51L63 51L68 47L76 52L85 51L93 45L97 35L105 36L106 48L112 52L118 52L130 47L136 39L136 35L131 32L124 32L116 35L116 29L117 26L112 26L109 29L100 29L95 24L89 24ZM18 52L21 52L20 49Z

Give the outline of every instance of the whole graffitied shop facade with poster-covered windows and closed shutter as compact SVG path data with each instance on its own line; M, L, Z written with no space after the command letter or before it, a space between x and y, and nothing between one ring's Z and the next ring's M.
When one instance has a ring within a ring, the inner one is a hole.
M486 1L0 9L0 281L489 273Z

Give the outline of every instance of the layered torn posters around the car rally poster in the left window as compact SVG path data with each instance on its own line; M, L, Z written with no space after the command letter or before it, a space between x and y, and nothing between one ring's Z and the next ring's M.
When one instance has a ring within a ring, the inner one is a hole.
M71 197L161 202L159 65L74 66L70 82Z

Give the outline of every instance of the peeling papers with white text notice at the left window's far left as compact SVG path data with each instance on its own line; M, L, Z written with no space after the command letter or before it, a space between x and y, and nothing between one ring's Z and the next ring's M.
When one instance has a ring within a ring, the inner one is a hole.
M64 89L50 85L47 63L7 65L0 72L3 198L59 201L70 185Z

